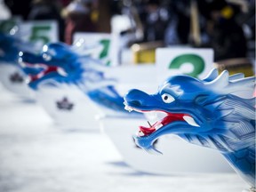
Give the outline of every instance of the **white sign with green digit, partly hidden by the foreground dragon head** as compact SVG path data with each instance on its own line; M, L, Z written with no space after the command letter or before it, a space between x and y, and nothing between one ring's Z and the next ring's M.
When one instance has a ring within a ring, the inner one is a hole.
M203 78L213 68L213 50L204 48L157 48L157 77L163 82L167 77L186 74Z

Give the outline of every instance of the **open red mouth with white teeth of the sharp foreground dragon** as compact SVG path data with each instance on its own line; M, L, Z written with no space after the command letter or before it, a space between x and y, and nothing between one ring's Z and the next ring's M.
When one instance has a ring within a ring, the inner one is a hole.
M130 106L128 106L127 104L125 104L125 109L128 111L138 111L140 113L148 113L148 112L152 112L152 110L140 110L137 108L132 108ZM155 110L155 112L159 112L157 110ZM161 111L163 112L163 111ZM189 116L188 114L174 114L174 113L169 113L164 111L164 118L162 118L161 120L157 121L155 124L149 124L149 127L145 127L145 126L139 126L139 132L137 133L138 137L143 137L143 136L148 136L150 134L152 134L153 132L156 132L158 129L164 127L166 124L171 124L174 121L183 121L183 122L187 122L190 125L193 126L199 126L198 124L196 124L194 118L192 116Z

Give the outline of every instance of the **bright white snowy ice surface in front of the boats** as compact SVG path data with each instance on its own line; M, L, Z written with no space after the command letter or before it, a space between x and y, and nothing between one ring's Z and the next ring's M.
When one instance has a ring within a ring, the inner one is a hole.
M136 172L100 130L62 131L38 103L21 100L0 84L0 192L241 192L246 187L236 173Z

